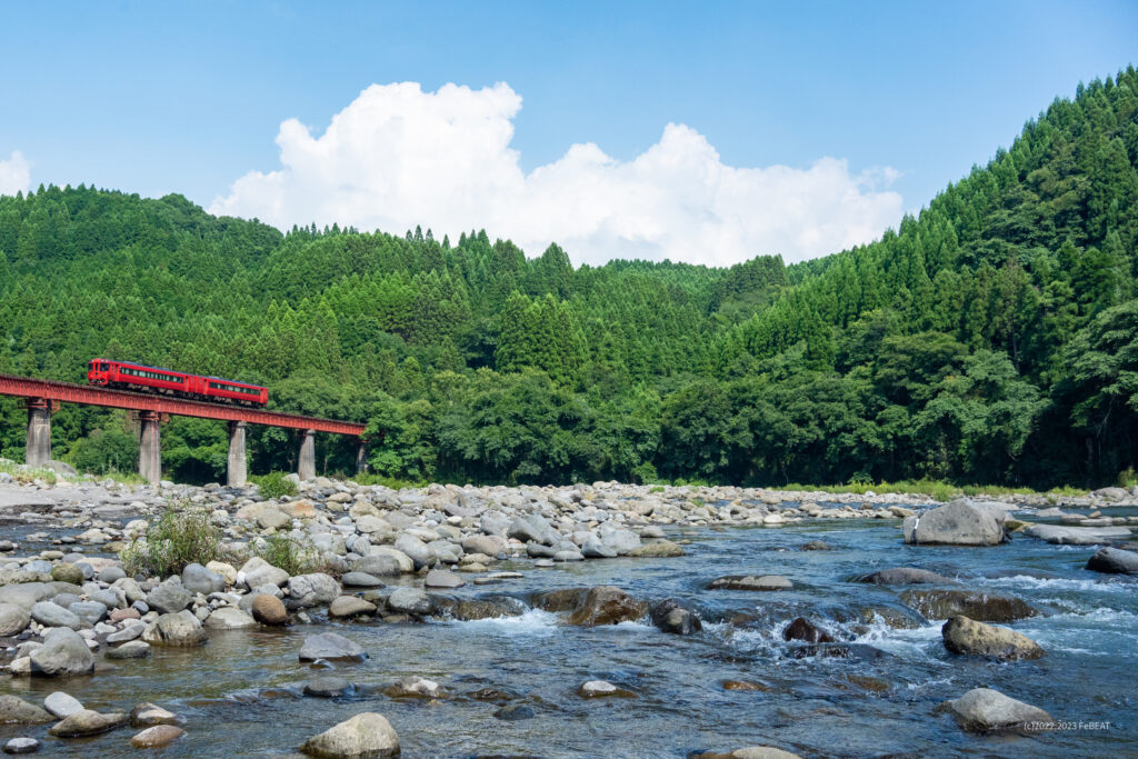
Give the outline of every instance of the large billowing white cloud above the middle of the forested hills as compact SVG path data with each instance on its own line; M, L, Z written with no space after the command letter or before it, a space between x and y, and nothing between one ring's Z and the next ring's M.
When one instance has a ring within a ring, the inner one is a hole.
M891 168L851 174L836 158L727 166L683 124L668 124L632 160L588 142L526 174L510 148L520 108L504 83L437 92L373 84L323 135L282 123L281 167L240 178L211 211L281 229L315 221L402 233L421 224L438 239L486 229L531 256L559 242L578 264L723 265L773 253L801 261L868 242L901 217L900 195L882 189L897 176Z

